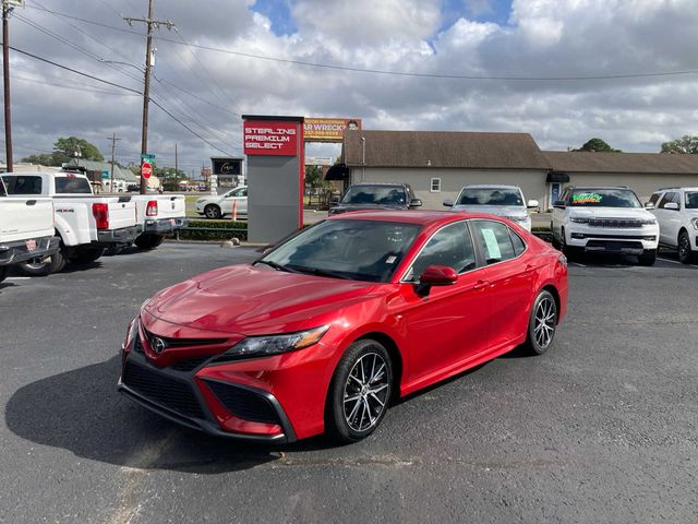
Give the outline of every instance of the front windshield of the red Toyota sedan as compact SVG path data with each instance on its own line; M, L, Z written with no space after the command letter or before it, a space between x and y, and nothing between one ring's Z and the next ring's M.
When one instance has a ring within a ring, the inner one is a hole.
M256 264L291 273L389 282L420 226L378 221L325 221L291 238Z

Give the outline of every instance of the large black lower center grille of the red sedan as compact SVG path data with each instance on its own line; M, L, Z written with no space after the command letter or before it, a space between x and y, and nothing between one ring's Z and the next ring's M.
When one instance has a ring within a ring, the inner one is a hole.
M204 412L191 386L157 371L127 360L123 383L146 398L181 415L204 418Z

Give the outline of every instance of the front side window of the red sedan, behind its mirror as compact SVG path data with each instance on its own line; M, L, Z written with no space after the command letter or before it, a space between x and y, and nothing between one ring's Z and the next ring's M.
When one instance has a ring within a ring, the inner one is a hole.
M447 265L457 273L464 273L477 266L476 251L467 223L450 224L432 235L412 262L412 267L405 275L405 279L416 282L430 265Z

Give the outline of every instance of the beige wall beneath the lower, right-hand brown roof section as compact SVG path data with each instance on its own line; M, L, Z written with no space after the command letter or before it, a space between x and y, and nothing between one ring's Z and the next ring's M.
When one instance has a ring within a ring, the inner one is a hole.
M627 186L634 190L642 203L660 188L698 187L698 175L623 175L574 172L569 175L571 186ZM564 184L568 186L568 184Z

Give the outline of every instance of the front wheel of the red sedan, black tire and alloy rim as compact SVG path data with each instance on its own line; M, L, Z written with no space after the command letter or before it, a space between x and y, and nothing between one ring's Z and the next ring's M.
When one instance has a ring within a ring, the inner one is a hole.
M373 384L372 388L368 388ZM327 393L325 429L340 443L357 442L378 427L393 394L393 362L376 341L351 344L344 354Z

